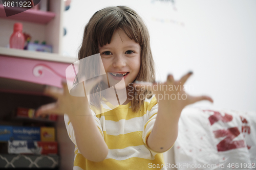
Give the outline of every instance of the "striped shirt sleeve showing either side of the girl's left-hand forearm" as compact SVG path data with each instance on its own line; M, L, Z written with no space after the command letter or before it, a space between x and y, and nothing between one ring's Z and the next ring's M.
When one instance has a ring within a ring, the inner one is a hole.
M104 137L103 131L102 131L102 127L100 125L100 120L98 119L98 117L96 117L96 114L94 113L93 110L91 110L91 112L92 112L93 118L95 120L95 123L96 123L96 125L97 125L97 127L98 127L98 129L99 129L99 131L100 131L100 133L102 135L102 137ZM67 129L69 138L77 146L75 132L74 132L72 123L70 122L69 116L67 114L64 114L64 122L65 122L65 126L66 126L66 129Z

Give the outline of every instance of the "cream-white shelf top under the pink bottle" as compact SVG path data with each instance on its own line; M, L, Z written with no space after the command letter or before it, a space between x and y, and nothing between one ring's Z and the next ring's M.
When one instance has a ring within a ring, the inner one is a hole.
M32 52L27 50L19 50L15 48L6 48L0 47L0 55L4 56L12 56L12 57L24 57L31 58L37 60L48 60L48 61L56 61L62 63L74 63L76 61L75 58L71 57L63 57L55 53L46 53L46 52Z

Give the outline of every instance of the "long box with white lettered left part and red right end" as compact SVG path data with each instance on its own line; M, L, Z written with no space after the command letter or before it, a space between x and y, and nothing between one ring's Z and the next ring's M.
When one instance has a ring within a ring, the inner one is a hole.
M41 142L29 140L8 141L9 154L48 155L58 153L57 142Z

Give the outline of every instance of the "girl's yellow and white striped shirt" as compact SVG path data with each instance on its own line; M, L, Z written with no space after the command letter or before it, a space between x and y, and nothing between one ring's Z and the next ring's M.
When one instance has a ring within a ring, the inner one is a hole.
M108 145L108 156L101 162L93 162L82 156L77 148L75 134L68 115L65 114L65 124L70 139L76 145L74 169L151 169L151 165L164 165L162 153L154 152L147 146L158 111L158 103L153 95L145 99L140 111L132 112L131 102L114 108L109 102L101 103L101 110L91 106L96 125L104 141ZM171 147L172 148L172 147ZM170 148L169 148L170 149ZM166 169L154 168L154 169Z

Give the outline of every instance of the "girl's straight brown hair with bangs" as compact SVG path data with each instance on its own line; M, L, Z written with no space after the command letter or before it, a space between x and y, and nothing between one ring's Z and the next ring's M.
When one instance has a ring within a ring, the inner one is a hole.
M141 67L136 78L138 81L154 82L155 68L150 47L150 36L142 18L131 8L125 6L106 7L97 11L84 28L82 44L79 49L78 59L82 59L99 53L99 46L111 42L116 29L124 33L141 47ZM99 85L98 85L99 86ZM95 86L92 93L99 87ZM129 86L133 95L147 96L151 98L153 93L144 89L136 90ZM91 102L99 107L102 95L94 95ZM131 101L132 110L137 112L145 99L133 98Z

